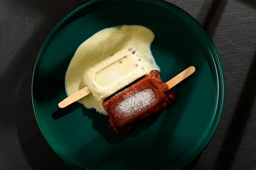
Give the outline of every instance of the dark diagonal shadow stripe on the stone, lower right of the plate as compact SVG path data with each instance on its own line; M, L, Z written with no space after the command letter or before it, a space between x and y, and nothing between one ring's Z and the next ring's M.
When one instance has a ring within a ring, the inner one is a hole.
M228 170L232 167L238 151L239 144L243 137L244 128L247 125L256 96L256 51L250 65L247 78L244 83L241 95L233 113L227 135L221 146L221 151L215 163L215 170Z

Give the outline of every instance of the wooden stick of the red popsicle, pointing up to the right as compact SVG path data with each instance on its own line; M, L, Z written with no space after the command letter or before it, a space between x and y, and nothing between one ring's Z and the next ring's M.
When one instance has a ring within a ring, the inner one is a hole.
M181 82L183 79L186 79L187 77L189 77L194 72L195 72L195 67L194 66L190 66L189 68L187 68L186 70L184 70L180 74L178 74L177 76L175 76L172 79L170 79L165 84L168 86L168 89L171 89L175 85L177 85L179 82Z

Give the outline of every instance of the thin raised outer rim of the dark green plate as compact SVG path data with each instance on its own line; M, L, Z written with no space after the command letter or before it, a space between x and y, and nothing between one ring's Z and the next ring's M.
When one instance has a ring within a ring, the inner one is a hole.
M35 99L36 99L35 85L38 84L38 82L36 82L36 80L38 81L38 78L36 78L35 75L38 73L39 62L43 58L43 53L44 53L45 49L47 49L47 46L49 45L49 42L51 42L54 35L58 32L58 30L65 24L65 22L70 17L72 17L74 14L78 13L79 11L86 9L87 7L95 6L95 5L102 5L102 3L112 3L112 2L115 2L115 1L128 1L128 0L92 0L90 2L87 2L87 3L83 4L82 6L79 6L78 8L73 10L72 12L70 12L66 17L64 17L52 29L50 34L47 36L47 39L44 41L44 44L42 45L41 50L40 50L40 52L38 54L38 57L36 59L36 62L35 62L35 67L34 67L34 71L33 71L33 75L32 75L32 105L33 105L33 110L34 110L34 113L35 113L35 118L36 118L36 121L38 123L38 127L40 128L41 133L44 136L44 139L47 141L47 143L52 148L52 150L56 153L56 155L58 155L58 157L61 158L61 160L72 169L73 169L73 167L71 167L67 163L66 160L64 161L64 156L62 156L62 155L60 155L56 152L56 150L52 146L51 142L46 137L46 133L44 132L44 130L42 130L42 128L40 126L40 120L38 119L38 113L37 113L37 106L36 106L36 103L34 102ZM174 165L175 168L182 169L182 168L186 167L189 163L191 163L200 153L202 153L204 151L204 149L207 147L209 142L212 140L212 137L214 136L214 134L215 134L215 132L218 128L219 122L221 120L221 116L223 114L223 109L224 109L225 88L226 88L225 87L224 68L223 68L223 65L222 65L222 62L221 62L221 57L218 53L218 50L217 50L214 42L209 37L207 32L204 31L204 28L201 26L201 24L194 17L192 17L189 13L187 13L185 10L183 10L182 8L176 6L175 4L173 4L173 3L171 3L167 0L150 0L150 1L148 1L148 0L133 0L133 1L143 1L143 2L147 2L147 3L154 3L156 5L161 5L163 7L167 6L169 10L171 10L170 8L176 8L178 11L182 12L183 14L186 14L186 17L189 17L190 19L192 19L195 22L195 24L193 24L193 25L195 25L195 26L197 26L197 28L199 28L198 30L194 30L195 33L199 34L199 32L200 32L200 35L204 34L204 40L201 40L201 41L204 42L204 44L207 46L208 51L210 53L212 53L212 60L215 64L216 77L218 79L217 102L216 102L216 109L215 109L215 113L214 113L214 118L211 122L211 127L209 128L209 131L204 136L204 139L201 141L200 144L197 144L196 150L193 153L189 154L188 158L185 158L185 159L181 160L183 162L182 166L178 166L179 165L178 163L180 161L175 163L175 165ZM131 2L131 0L129 2ZM201 37L201 39L203 39L202 38L203 36L198 36L198 37ZM206 43L206 40L207 40L207 43ZM218 113L218 115L216 115L217 113ZM207 139L207 135L209 134L210 131L211 131L211 134L209 135L209 137ZM206 141L204 142L204 140L206 140ZM202 144L202 142L204 142L204 144ZM70 159L72 159L72 158L70 158ZM73 161L76 163L75 160L73 160ZM84 169L87 169L87 168L81 166L78 163L76 163L76 164L79 165L80 167L84 168Z

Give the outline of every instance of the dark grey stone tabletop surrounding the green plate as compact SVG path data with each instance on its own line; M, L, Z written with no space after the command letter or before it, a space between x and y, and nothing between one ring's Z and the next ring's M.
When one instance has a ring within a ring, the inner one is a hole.
M256 169L256 1L169 0L207 30L224 65L226 103L195 170ZM69 170L44 140L31 100L38 52L86 0L0 0L0 170Z

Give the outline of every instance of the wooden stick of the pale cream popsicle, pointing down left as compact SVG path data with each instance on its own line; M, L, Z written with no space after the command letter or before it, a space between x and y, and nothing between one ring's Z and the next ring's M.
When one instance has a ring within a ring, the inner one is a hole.
M90 94L85 88L82 88L81 90L77 91L74 94L71 94L66 99L64 99L62 102L58 104L60 108L65 108L68 105L72 104L73 102L76 102L77 100L83 98L84 96L87 96Z

